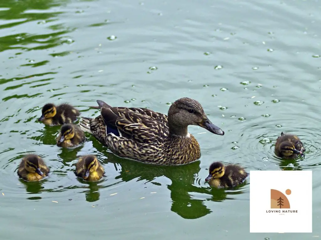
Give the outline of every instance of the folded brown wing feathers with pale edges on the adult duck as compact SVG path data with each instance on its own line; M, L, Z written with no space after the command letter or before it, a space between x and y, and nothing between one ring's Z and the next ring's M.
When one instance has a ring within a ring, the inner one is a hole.
M107 126L107 134L115 134L114 131L117 130L119 134L116 133L116 136L124 136L140 143L161 143L168 136L167 123L157 121L151 110L135 109L102 107L100 115Z

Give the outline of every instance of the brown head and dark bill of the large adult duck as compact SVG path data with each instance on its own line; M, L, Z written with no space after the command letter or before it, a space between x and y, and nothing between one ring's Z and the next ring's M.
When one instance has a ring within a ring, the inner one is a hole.
M187 134L188 125L198 125L209 132L224 135L218 126L214 125L204 113L202 105L190 98L180 98L176 100L168 110L169 130L176 134ZM184 130L184 131L182 131Z

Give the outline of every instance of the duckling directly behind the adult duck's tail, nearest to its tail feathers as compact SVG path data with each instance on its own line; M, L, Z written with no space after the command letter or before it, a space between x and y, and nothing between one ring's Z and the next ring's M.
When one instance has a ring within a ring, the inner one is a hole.
M85 134L75 124L64 124L56 141L58 147L73 148L85 141Z

